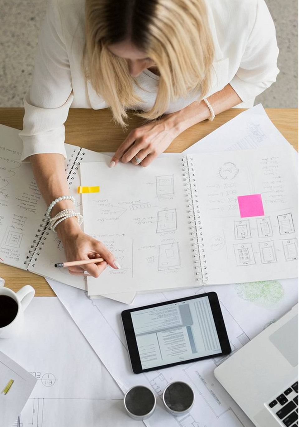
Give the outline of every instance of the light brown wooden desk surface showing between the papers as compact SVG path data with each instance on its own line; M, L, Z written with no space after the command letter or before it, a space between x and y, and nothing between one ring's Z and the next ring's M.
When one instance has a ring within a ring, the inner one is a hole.
M192 126L178 136L166 151L182 152L242 111L244 110L231 109L219 114L213 122L206 120ZM266 111L274 125L298 151L298 109L267 108ZM22 129L23 114L23 108L0 108L0 123ZM127 131L123 132L119 126L112 123L110 111L107 109L71 109L65 123L66 142L98 152L114 152L125 135L141 124L142 119L133 115ZM25 284L31 284L37 296L55 295L43 277L15 267L0 264L0 277L3 277L6 286L14 291Z

